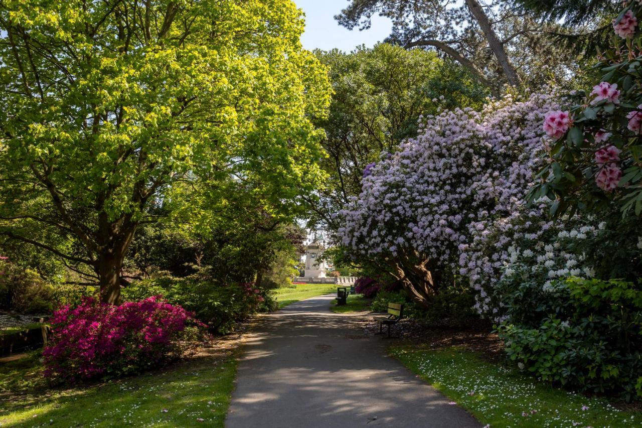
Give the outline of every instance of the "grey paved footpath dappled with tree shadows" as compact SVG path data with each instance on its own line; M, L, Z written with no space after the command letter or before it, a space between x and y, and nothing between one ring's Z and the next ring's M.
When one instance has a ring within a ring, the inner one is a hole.
M238 366L227 428L481 427L365 337L334 296L262 316Z

